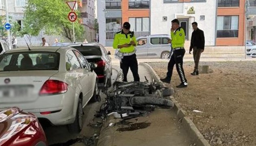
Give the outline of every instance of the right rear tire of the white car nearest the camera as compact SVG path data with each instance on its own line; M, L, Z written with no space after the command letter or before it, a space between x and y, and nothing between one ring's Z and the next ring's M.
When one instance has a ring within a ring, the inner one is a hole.
M68 125L68 130L70 133L79 133L82 130L82 120L83 120L83 109L82 109L82 99L79 98L76 119L75 122Z

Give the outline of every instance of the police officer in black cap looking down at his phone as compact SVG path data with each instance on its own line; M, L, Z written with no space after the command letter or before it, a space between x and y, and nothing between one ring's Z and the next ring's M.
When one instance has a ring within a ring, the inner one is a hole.
M127 74L130 67L135 82L139 82L138 62L136 58L136 38L134 32L130 31L129 22L124 22L120 32L115 34L113 48L120 49L118 56L120 68L123 70L123 82L127 82Z

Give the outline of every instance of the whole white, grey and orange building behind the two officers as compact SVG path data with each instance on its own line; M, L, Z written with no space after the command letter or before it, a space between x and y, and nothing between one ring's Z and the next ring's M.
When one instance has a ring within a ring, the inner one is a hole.
M98 2L100 43L111 46L115 32L129 21L136 36L169 34L171 20L179 19L186 39L191 23L204 30L208 46L242 46L245 0L102 0Z

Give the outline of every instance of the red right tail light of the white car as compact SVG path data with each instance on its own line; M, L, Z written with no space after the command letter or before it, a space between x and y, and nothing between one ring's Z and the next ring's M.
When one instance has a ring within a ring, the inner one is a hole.
M39 94L49 95L65 93L67 92L67 86L65 82L49 79L43 84Z

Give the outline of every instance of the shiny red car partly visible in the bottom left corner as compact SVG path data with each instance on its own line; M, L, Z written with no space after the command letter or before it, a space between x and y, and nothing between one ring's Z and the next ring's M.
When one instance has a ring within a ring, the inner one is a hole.
M0 146L48 146L33 114L13 107L0 112Z

